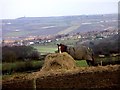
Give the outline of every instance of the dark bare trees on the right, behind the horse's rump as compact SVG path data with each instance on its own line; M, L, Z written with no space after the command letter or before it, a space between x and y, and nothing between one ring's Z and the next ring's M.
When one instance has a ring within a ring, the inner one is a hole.
M103 54L105 56L120 53L119 45L120 41L118 35L103 40L99 40L98 42L94 41L89 43L89 47L93 49L95 55Z

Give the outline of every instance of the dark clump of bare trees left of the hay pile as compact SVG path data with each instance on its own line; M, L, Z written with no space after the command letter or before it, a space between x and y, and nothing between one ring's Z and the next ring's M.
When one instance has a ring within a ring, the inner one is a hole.
M32 46L3 46L2 62L38 60L40 53Z

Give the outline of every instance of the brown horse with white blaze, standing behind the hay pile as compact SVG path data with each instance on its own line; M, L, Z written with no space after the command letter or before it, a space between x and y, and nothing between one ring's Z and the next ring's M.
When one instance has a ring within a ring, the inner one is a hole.
M74 59L79 60L86 60L87 64L94 65L94 58L92 50L85 46L77 46L77 47L69 47L64 44L57 44L58 45L58 52L67 52L70 54Z

